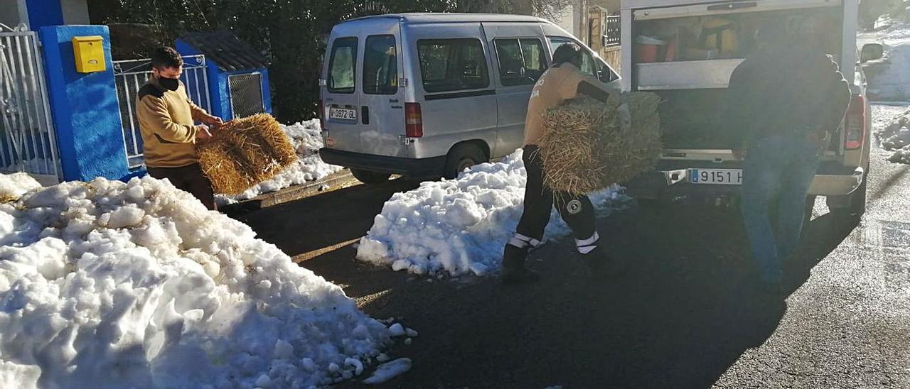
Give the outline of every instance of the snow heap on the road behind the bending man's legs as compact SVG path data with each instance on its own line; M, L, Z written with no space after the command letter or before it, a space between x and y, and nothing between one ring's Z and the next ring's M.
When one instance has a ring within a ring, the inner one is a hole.
M473 166L458 179L395 194L360 240L357 256L415 274L496 271L521 217L525 180L518 150L499 163ZM603 215L622 198L622 188L614 185L592 194L591 202ZM554 210L546 238L570 233Z

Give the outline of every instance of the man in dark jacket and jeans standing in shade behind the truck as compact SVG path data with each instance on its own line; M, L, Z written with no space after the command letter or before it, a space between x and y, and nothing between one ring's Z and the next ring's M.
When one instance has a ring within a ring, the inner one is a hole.
M742 213L763 289L779 294L782 262L799 241L822 147L844 120L850 87L820 47L811 18L763 29L733 71L723 114L743 155ZM776 204L777 224L769 214Z

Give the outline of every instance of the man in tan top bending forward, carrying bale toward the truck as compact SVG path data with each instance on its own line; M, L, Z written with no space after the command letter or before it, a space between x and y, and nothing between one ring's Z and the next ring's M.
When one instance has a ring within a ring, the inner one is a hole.
M548 110L581 95L602 102L609 96L605 85L597 78L582 73L581 48L574 44L561 45L553 53L553 65L531 92L524 127L524 167L528 181L524 192L524 213L515 235L502 254L501 280L505 284L531 284L539 276L525 267L528 251L541 243L543 229L550 222L553 205L575 235L579 253L593 267L604 268L613 261L602 253L600 235L594 225L594 207L584 194L554 192L544 183L544 166L538 155L538 143L546 129L541 116Z

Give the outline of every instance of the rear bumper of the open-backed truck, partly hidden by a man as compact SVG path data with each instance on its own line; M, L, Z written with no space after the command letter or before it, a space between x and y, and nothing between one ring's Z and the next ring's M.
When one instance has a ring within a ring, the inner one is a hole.
M626 193L641 198L674 198L679 196L739 195L740 185L695 185L688 181L687 169L654 171L626 183ZM837 196L852 194L863 184L865 171L837 165L822 165L809 188L809 194Z

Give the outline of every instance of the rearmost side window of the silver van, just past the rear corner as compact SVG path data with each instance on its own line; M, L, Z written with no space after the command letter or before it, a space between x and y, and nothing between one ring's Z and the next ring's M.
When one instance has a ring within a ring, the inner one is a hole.
M420 39L420 78L427 92L450 92L490 86L487 58L479 39Z

